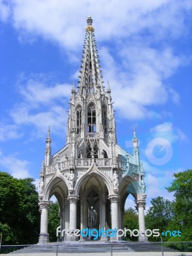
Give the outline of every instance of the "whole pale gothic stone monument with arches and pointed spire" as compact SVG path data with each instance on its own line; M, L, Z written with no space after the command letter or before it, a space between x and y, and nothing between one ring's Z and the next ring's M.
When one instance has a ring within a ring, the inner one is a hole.
M145 172L138 138L134 129L133 154L117 144L111 90L109 84L106 91L102 85L92 22L88 17L79 86L76 90L73 84L70 97L65 147L51 156L50 129L47 135L40 172L39 243L49 242L47 217L52 195L60 205L61 230L93 226L106 230L124 228L125 200L131 194L138 210L140 234L145 232ZM97 218L91 215L92 210ZM77 237L63 234L62 239L74 241ZM147 241L147 237L140 235L139 241Z

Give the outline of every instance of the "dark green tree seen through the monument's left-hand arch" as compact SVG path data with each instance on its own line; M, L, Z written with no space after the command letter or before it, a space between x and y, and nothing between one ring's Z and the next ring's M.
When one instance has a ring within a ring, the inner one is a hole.
M58 237L56 237L56 228L60 226L60 207L58 202L49 205L49 216L48 216L48 232L49 241L55 242Z

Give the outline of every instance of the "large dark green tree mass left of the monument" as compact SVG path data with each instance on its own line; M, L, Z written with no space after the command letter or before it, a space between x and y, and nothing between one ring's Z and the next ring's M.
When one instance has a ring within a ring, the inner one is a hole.
M35 180L15 179L0 172L0 233L3 243L36 243L40 214Z

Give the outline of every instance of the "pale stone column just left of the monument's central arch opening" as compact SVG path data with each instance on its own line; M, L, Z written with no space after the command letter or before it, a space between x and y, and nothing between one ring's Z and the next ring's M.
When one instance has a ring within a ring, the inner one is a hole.
M71 195L67 198L69 200L69 228L70 232L73 233L74 230L77 228L77 200L79 199L79 196L77 195ZM78 237L76 236L68 236L67 235L67 241L77 241Z

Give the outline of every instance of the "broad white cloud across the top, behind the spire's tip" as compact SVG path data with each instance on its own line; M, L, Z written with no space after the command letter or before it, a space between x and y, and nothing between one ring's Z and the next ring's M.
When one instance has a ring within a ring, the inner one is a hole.
M188 0L15 0L12 19L15 28L22 33L40 35L74 49L82 42L81 24L88 15L93 16L102 40L139 34L143 29L149 33L156 31L156 37L163 38L180 36L185 28L184 14L190 9Z

